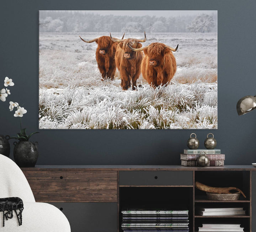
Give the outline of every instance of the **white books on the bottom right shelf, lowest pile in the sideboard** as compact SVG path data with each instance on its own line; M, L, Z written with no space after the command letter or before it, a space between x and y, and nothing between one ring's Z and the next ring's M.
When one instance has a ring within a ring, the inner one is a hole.
M229 232L239 232L244 231L244 227L241 227L241 224L203 224L202 227L198 228L198 231L229 231Z

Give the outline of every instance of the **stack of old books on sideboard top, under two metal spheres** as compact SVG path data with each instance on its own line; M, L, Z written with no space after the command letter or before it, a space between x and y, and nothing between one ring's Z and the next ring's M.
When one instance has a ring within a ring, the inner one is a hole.
M197 158L201 151L204 151L209 159L207 166L224 166L225 155L220 153L220 149L184 149L184 153L180 154L181 165L197 166Z

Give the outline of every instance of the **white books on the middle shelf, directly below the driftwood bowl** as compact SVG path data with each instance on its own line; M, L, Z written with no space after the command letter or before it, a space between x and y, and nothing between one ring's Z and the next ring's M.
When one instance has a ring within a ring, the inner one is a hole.
M196 212L202 216L219 215L245 215L244 208L196 208Z

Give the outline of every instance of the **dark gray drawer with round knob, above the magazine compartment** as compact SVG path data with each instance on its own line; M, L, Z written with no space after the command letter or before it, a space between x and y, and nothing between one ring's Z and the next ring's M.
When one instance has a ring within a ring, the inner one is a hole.
M193 186L193 171L119 171L119 186Z

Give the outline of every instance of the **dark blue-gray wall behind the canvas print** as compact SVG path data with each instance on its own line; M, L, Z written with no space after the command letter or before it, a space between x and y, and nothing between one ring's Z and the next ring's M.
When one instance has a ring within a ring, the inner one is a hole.
M256 162L256 110L236 113L242 96L256 94L255 9L255 0L1 0L0 83L8 76L15 85L0 102L0 134L19 131L11 99L28 111L23 127L38 131L38 10L218 10L217 130L40 130L32 139L39 142L37 164L180 164L192 132L202 148L214 133L225 164Z

